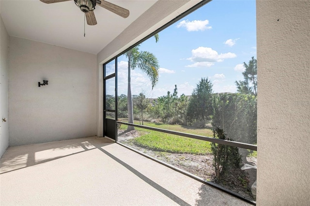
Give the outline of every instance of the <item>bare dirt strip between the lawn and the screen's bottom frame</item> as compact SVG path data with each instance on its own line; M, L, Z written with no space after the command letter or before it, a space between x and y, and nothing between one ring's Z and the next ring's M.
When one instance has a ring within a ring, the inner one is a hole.
M250 187L256 180L256 170L249 169L242 171L240 168L230 169L230 171L221 179L215 179L215 171L213 167L213 155L195 155L187 153L170 153L152 151L147 148L139 147L130 141L139 136L137 131L118 131L118 141L132 147L144 154L154 157L157 160L167 162L186 172L201 177L207 181L212 181L220 186L223 186L231 191L239 193L241 196L250 200L255 200L251 193ZM257 165L256 158L247 158L248 164Z

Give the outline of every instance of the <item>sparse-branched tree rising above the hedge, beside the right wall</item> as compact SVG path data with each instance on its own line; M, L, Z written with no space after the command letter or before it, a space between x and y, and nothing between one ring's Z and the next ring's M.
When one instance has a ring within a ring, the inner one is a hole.
M252 57L248 64L243 62L245 71L242 73L244 81L235 81L237 91L241 94L252 94L257 96L257 60ZM252 86L250 86L250 84Z

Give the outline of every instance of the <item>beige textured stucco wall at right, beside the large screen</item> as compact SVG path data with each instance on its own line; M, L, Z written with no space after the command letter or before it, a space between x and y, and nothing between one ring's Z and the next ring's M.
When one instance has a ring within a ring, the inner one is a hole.
M257 1L258 206L310 204L310 1Z

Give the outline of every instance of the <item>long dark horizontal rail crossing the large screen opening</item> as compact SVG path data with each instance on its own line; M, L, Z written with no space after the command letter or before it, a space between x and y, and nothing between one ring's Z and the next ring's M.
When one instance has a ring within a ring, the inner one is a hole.
M179 135L179 136L184 136L184 137L189 137L189 138L194 138L194 139L200 139L200 140L207 141L207 142L213 142L213 143L217 143L217 144L221 144L221 145L227 145L227 146L232 146L232 147L240 147L240 148L244 148L244 149L250 149L250 150L257 151L257 146L252 145L252 144L223 140L223 139L217 139L217 138L212 138L212 137L205 137L205 136L196 135L196 134L189 134L189 133L185 133L185 132L176 132L176 131L160 129L160 128L155 128L155 127L149 127L149 126L144 126L144 125L139 125L139 124L132 124L132 123L123 122L123 121L116 121L116 122L120 123L120 124L124 124L124 125L139 127L139 128L143 128L143 129L157 131L157 132L175 134L175 135Z

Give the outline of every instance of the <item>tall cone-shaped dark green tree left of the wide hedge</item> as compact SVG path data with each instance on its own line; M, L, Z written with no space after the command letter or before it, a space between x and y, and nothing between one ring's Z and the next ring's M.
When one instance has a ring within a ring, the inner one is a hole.
M212 115L212 87L213 85L208 78L202 78L193 90L186 113L189 122L194 120L204 122Z

